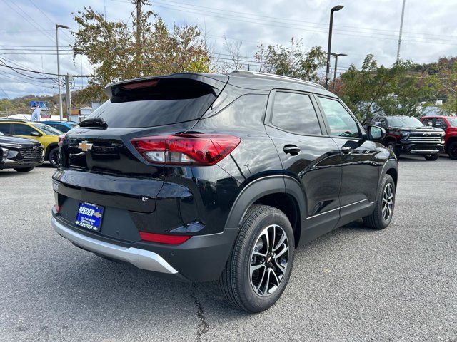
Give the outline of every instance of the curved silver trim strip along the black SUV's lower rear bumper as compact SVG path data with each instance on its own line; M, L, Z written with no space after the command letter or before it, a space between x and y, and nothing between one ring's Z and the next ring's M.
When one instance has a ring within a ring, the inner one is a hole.
M116 244L103 242L86 235L79 234L58 222L54 217L51 219L51 224L54 230L65 239L73 242L74 244L87 249L91 252L102 254L106 257L126 261L139 269L146 269L148 271L156 271L167 274L177 274L178 271L174 269L164 258L159 254L146 249L139 249L134 247L122 247Z

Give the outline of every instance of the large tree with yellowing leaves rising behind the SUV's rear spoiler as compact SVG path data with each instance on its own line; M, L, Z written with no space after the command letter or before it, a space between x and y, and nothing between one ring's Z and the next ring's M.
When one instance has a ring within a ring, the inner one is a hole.
M154 12L137 13L139 16L135 16L131 26L122 21L107 21L90 6L73 15L79 26L72 32L74 57L84 54L94 69L87 88L79 94L81 101L103 100L105 95L101 90L115 81L209 71L209 53L199 28L174 25L169 29Z

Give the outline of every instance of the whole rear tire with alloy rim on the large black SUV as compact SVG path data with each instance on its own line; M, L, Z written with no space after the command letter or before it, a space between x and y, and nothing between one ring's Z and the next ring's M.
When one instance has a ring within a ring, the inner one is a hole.
M266 236L273 237L273 234L278 241L271 245L277 242L278 247L274 249L275 246L273 246L272 251L269 252L269 247L267 247L269 244L263 245L263 242L271 240L266 239ZM286 240L281 244L282 237L286 237ZM259 244L261 244L261 249L258 249ZM294 247L293 229L286 214L266 205L250 207L243 219L226 267L218 281L226 301L238 309L251 313L261 312L273 306L286 289L291 276ZM260 252L265 253L266 257L261 257ZM275 257L276 254L278 254L277 257ZM279 259L281 265L284 265L283 261L287 258L284 271L278 267L276 258ZM253 263L256 264L253 265ZM261 268L253 271L251 275L252 266L261 266ZM276 271L273 271L275 269ZM258 280L262 271L263 276ZM268 279L264 278L266 274ZM280 274L280 276L278 277L276 274ZM268 281L270 275L273 277L271 281ZM257 281L256 284L254 281ZM262 286L262 284L266 285ZM258 289L254 289L256 285L258 285ZM271 293L268 294L270 286Z

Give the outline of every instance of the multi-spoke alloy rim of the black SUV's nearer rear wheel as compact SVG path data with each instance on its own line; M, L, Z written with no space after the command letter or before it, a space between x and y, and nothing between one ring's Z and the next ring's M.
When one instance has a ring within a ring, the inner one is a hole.
M288 239L277 224L263 229L251 253L251 285L259 296L273 294L281 284L288 265Z

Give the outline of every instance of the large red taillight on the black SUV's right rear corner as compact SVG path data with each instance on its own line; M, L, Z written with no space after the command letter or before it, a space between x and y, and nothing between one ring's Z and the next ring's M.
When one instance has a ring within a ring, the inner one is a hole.
M179 134L134 138L131 143L149 162L169 165L215 165L241 139L223 134Z

